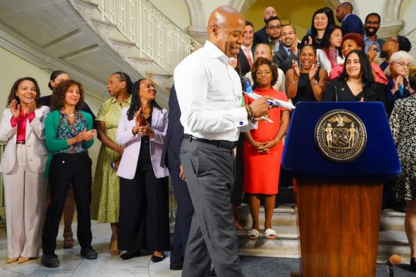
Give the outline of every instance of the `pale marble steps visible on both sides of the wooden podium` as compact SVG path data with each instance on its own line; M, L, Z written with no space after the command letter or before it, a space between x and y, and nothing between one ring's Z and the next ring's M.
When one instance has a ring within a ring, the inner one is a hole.
M296 213L293 205L280 205L275 208L272 226L277 231L276 240L268 240L261 230L259 239L250 241L246 235L251 227L252 219L248 205L243 204L239 210L239 219L245 226L244 231L237 232L239 237L239 253L241 255L257 255L267 257L299 258L300 242L296 225ZM260 227L264 224L264 210L260 210ZM401 255L402 262L408 262L410 247L404 232L404 214L392 210L381 212L379 233L379 262L385 262L390 255Z

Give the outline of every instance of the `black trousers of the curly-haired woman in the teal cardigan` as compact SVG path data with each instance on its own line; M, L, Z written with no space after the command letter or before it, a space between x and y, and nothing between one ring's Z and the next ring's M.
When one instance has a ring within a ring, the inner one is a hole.
M53 156L49 167L51 203L46 212L42 235L44 254L49 255L55 252L59 222L71 184L78 212L78 228L76 231L78 242L81 248L91 246L92 233L89 217L92 187L91 165L92 160L88 153L60 153Z

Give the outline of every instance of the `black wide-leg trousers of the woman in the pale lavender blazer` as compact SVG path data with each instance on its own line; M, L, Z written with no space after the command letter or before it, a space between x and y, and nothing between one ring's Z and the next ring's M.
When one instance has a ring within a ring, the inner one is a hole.
M120 178L119 249L170 250L168 177L153 169Z

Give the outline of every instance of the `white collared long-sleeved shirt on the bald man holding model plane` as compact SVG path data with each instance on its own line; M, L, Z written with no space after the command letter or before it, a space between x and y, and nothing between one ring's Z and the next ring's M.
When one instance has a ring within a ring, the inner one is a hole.
M175 68L185 134L234 142L239 138L239 127L248 126L247 112L240 106L240 77L228 60L223 51L207 41Z

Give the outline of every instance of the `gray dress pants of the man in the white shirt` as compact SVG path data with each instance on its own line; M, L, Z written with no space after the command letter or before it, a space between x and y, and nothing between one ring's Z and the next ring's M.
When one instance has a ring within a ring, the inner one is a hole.
M218 277L243 276L230 210L232 150L184 138L180 160L195 209L182 277L208 276L211 262Z

